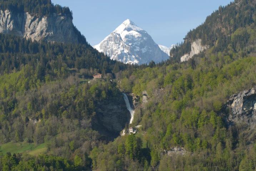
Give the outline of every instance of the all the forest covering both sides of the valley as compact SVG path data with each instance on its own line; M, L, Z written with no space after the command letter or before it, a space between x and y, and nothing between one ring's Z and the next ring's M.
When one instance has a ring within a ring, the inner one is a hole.
M50 0L3 2L1 8L38 15L69 11ZM223 110L231 95L256 85L255 6L221 6L188 32L169 61L142 66L112 61L83 37L70 45L1 34L0 147L24 142L46 149L35 155L0 148L0 170L255 171L256 132L229 126ZM180 63L198 38L209 48ZM92 81L96 72L104 79ZM121 91L140 99L130 126L142 126L109 138L93 124L101 105L121 101ZM168 154L174 147L182 154Z

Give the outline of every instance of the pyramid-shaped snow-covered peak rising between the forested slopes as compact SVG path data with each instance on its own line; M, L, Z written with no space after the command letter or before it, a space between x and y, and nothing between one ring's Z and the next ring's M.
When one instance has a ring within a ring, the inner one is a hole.
M111 59L130 64L143 64L150 61L157 63L169 59L169 55L160 49L152 37L129 19L94 48Z

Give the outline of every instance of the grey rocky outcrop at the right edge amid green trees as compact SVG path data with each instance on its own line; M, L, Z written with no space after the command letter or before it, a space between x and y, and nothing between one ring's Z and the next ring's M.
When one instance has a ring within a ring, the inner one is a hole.
M231 114L228 121L231 124L246 124L251 129L256 127L256 91L255 88L232 95L227 101Z

